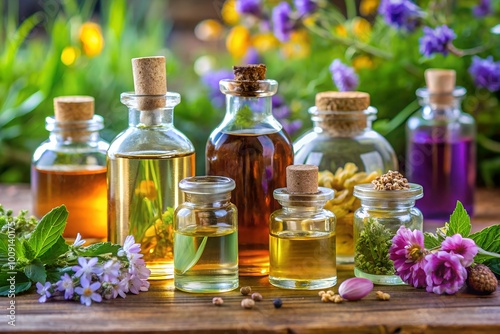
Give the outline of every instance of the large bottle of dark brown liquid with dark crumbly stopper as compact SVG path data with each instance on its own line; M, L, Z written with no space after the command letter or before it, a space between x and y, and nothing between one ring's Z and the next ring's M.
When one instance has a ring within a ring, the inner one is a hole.
M232 201L238 208L239 272L264 276L269 273L269 216L279 207L272 192L286 185L285 170L293 164L291 141L272 114L278 83L264 76L235 78L221 80L220 88L226 94L226 115L208 139L206 172L236 182Z

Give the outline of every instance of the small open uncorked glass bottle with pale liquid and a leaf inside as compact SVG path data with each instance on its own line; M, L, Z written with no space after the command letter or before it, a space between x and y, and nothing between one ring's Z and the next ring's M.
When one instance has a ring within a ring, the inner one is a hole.
M238 211L230 202L235 183L223 176L183 179L186 201L174 218L174 285L210 293L238 287Z

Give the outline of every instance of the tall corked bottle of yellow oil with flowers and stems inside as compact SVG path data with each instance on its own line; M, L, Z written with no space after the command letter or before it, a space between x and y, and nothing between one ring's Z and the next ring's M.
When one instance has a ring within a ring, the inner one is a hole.
M173 277L174 209L178 183L195 175L195 151L174 127L180 95L167 91L164 57L132 59L134 92L121 94L129 127L108 150L109 239L141 243L150 279Z

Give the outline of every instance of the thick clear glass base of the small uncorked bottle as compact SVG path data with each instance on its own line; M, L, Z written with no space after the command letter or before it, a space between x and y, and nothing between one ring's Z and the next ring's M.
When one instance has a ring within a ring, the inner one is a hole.
M228 280L227 277L224 280L217 279L217 277L184 277L174 278L174 286L176 289L185 292L194 293L213 293L213 292L226 292L236 289L239 286L238 278L233 280Z

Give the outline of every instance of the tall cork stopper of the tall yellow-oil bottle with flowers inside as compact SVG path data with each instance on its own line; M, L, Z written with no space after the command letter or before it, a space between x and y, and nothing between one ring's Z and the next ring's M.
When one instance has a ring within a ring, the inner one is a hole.
M132 59L134 91L136 95L159 95L143 97L137 101L140 110L154 110L165 107L167 75L165 57L143 57Z

